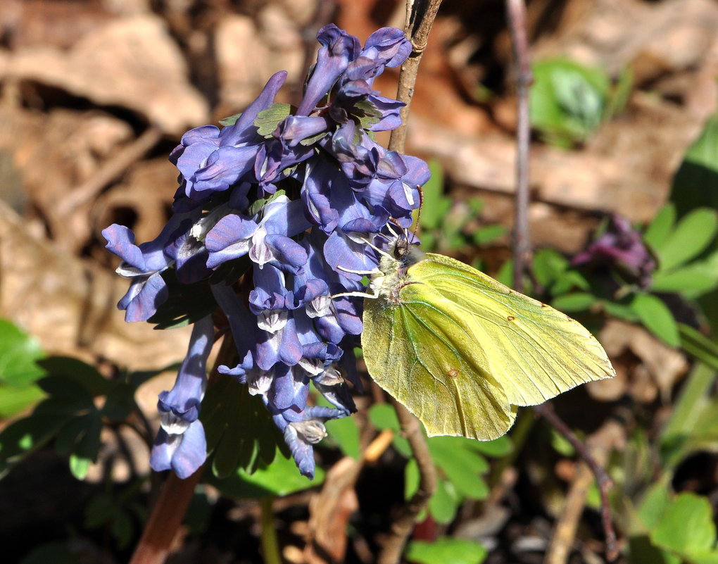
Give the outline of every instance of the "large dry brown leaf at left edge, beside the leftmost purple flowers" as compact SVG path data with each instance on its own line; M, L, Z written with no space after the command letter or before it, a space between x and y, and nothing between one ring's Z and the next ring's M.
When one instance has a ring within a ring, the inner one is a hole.
M0 315L36 336L50 353L130 369L153 369L182 358L190 328L156 331L125 323L116 303L128 282L39 239L0 203Z

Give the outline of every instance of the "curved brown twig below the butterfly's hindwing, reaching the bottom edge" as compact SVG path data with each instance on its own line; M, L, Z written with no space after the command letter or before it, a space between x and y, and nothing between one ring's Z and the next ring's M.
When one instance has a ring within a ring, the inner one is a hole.
M378 564L396 564L401 558L401 551L404 550L406 539L411 535L416 523L416 517L424 510L429 503L434 491L437 489L437 473L434 460L429 453L429 445L426 444L424 433L421 432L419 420L409 413L402 404L393 402L396 407L401 430L409 441L411 451L416 459L416 466L419 467L419 489L416 494L404 505L398 517L391 524L386 542L381 549Z

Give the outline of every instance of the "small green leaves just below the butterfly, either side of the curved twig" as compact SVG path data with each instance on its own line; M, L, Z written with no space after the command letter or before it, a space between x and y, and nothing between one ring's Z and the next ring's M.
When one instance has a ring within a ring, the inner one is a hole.
M419 489L419 469L411 456L411 447L400 435L396 412L389 404L375 404L369 417L378 429L391 429L396 434L393 446L398 453L409 458L404 471L404 495L410 499ZM429 513L438 523L448 524L456 517L457 510L467 499L485 499L488 485L484 476L488 473L487 456L499 458L512 450L507 436L491 441L472 440L463 437L429 437L429 452L437 466L437 491L429 500Z

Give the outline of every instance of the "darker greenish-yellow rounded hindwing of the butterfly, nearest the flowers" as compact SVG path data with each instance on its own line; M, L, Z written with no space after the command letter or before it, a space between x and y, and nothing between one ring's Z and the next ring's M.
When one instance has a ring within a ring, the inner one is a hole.
M431 287L409 284L401 301L364 302L362 347L372 378L424 423L429 435L500 437L516 411L485 367L464 313Z

